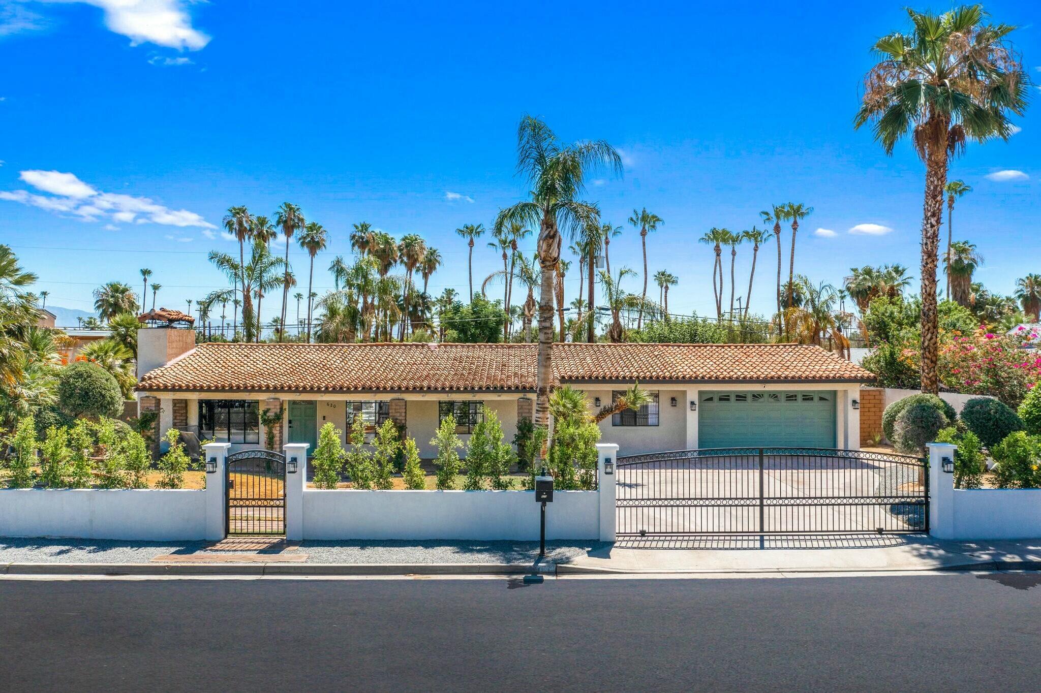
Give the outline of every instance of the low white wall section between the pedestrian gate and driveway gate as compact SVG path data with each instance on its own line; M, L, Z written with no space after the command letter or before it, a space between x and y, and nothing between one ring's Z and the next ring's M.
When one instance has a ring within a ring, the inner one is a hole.
M304 539L538 540L534 491L303 492ZM600 493L556 491L547 539L600 537Z

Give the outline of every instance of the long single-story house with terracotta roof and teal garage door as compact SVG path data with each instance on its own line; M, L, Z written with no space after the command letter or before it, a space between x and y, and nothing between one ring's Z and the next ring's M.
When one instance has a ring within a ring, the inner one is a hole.
M284 407L277 444L308 442L356 416L404 425L421 455L455 415L465 441L494 410L506 439L531 417L536 344L195 343L191 330L138 332L138 400L159 428L188 428L232 451L262 446L261 410ZM654 402L601 422L624 454L745 445L857 448L859 391L872 376L805 344L554 345L555 384L583 390L594 409L638 382ZM285 439L282 429L285 429Z

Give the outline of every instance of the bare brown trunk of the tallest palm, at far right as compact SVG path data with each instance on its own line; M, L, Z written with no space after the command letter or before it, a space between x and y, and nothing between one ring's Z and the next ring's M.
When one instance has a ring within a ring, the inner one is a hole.
M921 222L921 391L939 394L940 383L936 373L939 360L936 251L943 222L947 152L943 146L931 147L930 150L925 159L925 202Z

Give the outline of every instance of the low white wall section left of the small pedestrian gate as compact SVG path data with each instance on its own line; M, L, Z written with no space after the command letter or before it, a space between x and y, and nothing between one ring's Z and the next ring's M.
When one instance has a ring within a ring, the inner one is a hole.
M205 498L201 490L0 489L0 536L204 539Z

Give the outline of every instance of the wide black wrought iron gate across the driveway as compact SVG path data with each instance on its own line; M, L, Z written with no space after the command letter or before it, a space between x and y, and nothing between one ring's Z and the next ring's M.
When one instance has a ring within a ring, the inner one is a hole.
M617 534L929 531L925 460L862 451L740 447L619 457Z

